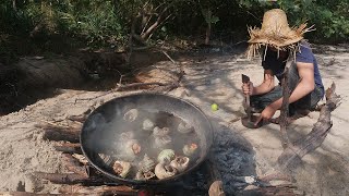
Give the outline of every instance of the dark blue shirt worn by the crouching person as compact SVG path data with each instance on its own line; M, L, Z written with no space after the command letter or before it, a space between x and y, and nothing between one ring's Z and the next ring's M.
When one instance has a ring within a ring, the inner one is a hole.
M296 62L313 63L314 64L314 81L315 85L321 89L322 96L324 96L325 88L322 82L322 77L318 71L317 61L306 42L300 45L300 51L296 53ZM273 74L281 81L281 75L286 66L286 60L277 58L277 52L267 50L265 59L262 61L264 70L272 70Z

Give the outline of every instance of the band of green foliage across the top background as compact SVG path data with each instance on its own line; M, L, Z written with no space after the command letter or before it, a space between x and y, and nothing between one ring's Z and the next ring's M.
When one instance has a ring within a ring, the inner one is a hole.
M214 24L213 39L222 34L231 34L234 39L239 32L246 36L246 25L260 26L263 13L272 8L285 10L291 25L314 24L316 30L306 38L334 42L349 39L348 0L4 0L0 2L0 35L20 36L40 45L61 36L79 38L89 46L122 47L127 46L132 24L142 37L166 10L163 20L167 21L144 36L145 40L202 37L207 24Z

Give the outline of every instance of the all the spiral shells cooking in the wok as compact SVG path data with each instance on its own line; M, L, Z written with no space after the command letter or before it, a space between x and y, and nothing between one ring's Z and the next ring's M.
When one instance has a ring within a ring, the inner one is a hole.
M124 113L123 120L127 122L134 122L139 117L137 109L131 109ZM149 132L154 137L153 148L159 149L159 154L155 159L152 159L144 152L143 159L140 160L142 147L137 139L134 138L135 133L128 131L121 133L119 139L116 142L118 146L117 160L112 161L110 156L100 154L100 158L112 167L115 173L120 177L129 176L132 170L136 170L134 180L145 181L151 179L167 179L178 173L184 172L190 163L190 158L197 151L197 144L184 145L182 151L176 154L173 149L168 148L172 143L169 135L171 130L169 127L159 127L151 119L142 120L142 130ZM141 122L142 122L141 121ZM179 123L177 131L182 134L193 132L193 127L184 122ZM142 154L143 155L143 154Z

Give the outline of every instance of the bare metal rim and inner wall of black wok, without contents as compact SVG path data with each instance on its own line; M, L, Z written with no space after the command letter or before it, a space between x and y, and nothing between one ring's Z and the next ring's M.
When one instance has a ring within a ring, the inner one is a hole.
M122 124L117 124L117 126L115 126L117 128L110 128L109 126L105 126L105 124L113 121L121 122L117 120L122 119L124 112L132 108L149 111L165 111L192 124L197 137L200 138L198 145L201 150L198 152L198 159L183 173L169 179L137 181L132 179L122 179L115 174L110 167L106 167L98 154L100 151L109 150L109 144L113 142L111 140L112 137L110 137L110 133L121 132L118 127L119 125L121 127ZM92 112L84 123L81 132L82 151L89 163L108 177L124 184L158 184L176 181L197 168L198 164L205 160L212 143L212 125L205 114L197 107L185 100L161 94L143 93L112 99Z

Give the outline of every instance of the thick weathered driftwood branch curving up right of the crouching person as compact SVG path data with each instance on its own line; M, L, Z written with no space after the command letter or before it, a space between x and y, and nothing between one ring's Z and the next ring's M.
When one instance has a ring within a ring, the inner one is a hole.
M304 137L298 139L293 146L289 146L278 158L281 168L291 168L306 154L316 149L324 142L332 127L330 112L340 105L340 96L335 93L336 85L332 84L326 90L326 105L321 109L317 122L312 131Z

